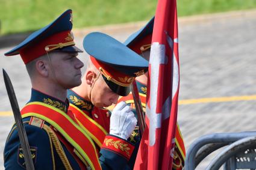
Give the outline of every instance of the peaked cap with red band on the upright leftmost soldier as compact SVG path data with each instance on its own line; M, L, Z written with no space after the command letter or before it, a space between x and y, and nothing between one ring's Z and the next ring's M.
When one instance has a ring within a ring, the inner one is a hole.
M20 54L23 62L27 64L51 51L83 52L73 41L72 10L61 14L54 22L33 32L28 38L16 47L5 53L5 56Z

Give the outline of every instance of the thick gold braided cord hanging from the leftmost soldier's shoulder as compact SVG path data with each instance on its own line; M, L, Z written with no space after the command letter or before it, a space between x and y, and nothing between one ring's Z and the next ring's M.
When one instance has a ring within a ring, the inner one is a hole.
M53 130L49 126L43 125L43 129L49 133L49 136L52 139L52 143L54 144L54 147L58 153L58 156L60 157L61 161L63 162L65 169L72 170L72 167L69 163L69 160L67 159L66 154L64 153L63 148L61 147L61 144L57 138L57 135L53 132Z

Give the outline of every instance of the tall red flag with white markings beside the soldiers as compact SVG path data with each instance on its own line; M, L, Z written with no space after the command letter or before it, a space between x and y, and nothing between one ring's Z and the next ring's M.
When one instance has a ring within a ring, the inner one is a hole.
M146 129L134 169L172 169L179 87L176 0L159 0L149 60Z

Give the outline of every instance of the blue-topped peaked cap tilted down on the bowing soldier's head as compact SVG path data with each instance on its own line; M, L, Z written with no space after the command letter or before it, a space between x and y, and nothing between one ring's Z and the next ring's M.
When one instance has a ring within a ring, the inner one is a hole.
M92 32L83 45L108 87L120 96L127 96L135 77L148 71L146 59L107 34Z

